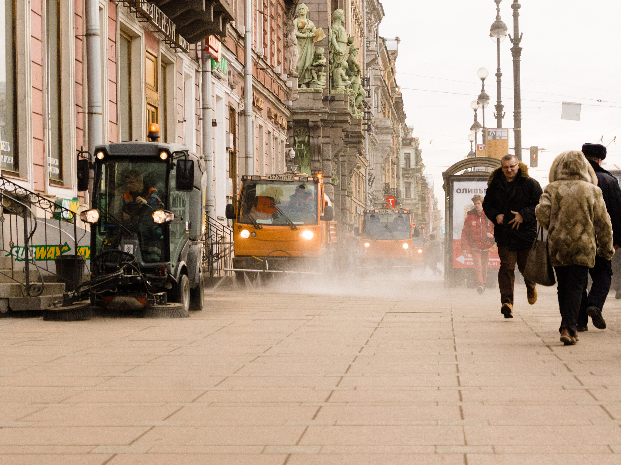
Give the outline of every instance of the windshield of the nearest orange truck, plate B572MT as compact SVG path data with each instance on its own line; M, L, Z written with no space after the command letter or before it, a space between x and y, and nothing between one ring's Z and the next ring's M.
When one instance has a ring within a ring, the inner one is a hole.
M244 181L240 223L260 225L317 224L317 184L299 181ZM286 216L286 218L285 218ZM251 219L252 218L252 219Z

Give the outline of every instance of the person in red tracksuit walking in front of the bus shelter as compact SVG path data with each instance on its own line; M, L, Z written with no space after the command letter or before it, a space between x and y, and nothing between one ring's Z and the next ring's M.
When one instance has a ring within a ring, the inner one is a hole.
M483 197L477 194L472 197L472 201L474 209L466 215L464 227L461 230L461 253L466 258L466 248L470 248L474 275L478 284L476 290L479 294L483 294L487 281L489 250L494 245L494 224L487 219L485 212L483 212Z

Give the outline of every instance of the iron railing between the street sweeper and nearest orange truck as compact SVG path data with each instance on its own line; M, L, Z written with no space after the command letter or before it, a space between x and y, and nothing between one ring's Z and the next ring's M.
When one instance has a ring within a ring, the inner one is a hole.
M202 236L202 262L207 276L229 276L233 268L233 230L209 215Z

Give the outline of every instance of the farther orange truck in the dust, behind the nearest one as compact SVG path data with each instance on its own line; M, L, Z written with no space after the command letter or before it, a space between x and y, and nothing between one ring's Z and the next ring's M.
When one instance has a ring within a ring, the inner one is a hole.
M414 250L412 241L409 209L365 210L360 237L360 268L394 266L409 271L415 265L414 258L419 258L414 254L422 258L422 251L417 250Z

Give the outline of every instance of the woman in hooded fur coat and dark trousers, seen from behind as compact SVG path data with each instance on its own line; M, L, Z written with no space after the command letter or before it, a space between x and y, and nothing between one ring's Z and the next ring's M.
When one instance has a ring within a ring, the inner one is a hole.
M561 342L573 345L578 341L576 319L587 272L596 253L606 260L614 255L612 225L595 171L581 151L557 156L549 179L535 216L548 230L550 263L558 281Z

